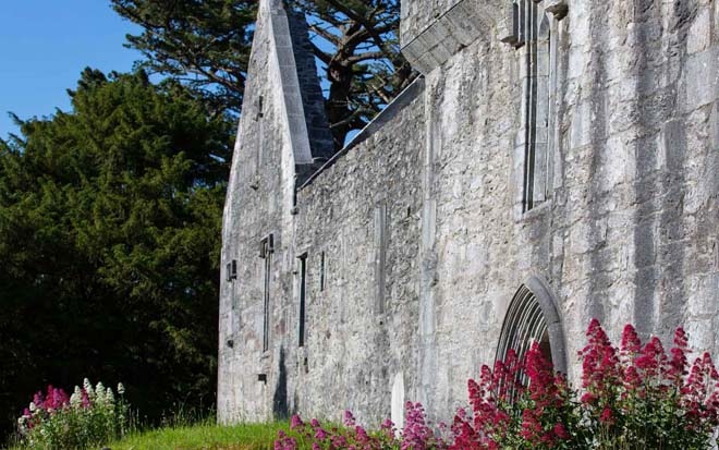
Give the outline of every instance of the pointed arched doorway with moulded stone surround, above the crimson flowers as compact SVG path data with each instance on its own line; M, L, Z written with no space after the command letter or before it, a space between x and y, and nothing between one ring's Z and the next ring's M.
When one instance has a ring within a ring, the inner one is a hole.
M533 342L539 343L555 370L566 372L564 335L555 297L538 277L531 277L514 294L499 337L497 360L505 360L510 350L523 358Z

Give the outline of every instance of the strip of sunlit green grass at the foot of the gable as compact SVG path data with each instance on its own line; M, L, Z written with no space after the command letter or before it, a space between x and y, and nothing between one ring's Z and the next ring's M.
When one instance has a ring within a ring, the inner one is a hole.
M277 431L288 423L219 426L199 424L158 428L130 435L112 450L266 450L273 449Z

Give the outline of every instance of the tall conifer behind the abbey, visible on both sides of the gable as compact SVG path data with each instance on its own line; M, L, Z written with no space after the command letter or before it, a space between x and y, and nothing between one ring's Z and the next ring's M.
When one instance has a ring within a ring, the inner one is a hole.
M257 0L111 0L144 29L144 68L181 81L216 111L240 112ZM400 52L398 0L285 0L307 16L337 148L416 76Z

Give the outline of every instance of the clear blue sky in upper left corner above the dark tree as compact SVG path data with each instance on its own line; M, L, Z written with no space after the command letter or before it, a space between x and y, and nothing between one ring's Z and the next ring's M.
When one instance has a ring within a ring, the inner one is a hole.
M85 66L126 72L139 53L122 46L139 28L107 0L0 0L0 137L21 119L70 109Z

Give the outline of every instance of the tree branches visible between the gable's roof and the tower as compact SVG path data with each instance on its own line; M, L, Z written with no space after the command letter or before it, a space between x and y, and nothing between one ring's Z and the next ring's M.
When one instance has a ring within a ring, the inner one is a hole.
M417 76L400 52L399 0L292 0L309 22L329 83L325 109L336 147Z

